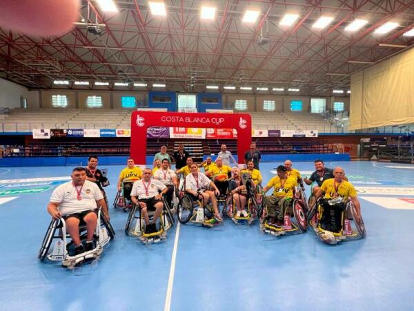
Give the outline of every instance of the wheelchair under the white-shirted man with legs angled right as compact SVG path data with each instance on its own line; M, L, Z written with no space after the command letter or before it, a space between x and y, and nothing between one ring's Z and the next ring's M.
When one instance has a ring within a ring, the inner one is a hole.
M192 223L199 223L202 227L210 228L221 223L214 217L213 205L210 202L204 205L203 199L193 200L193 197L189 194L184 194L179 200L177 218L182 224L190 221Z

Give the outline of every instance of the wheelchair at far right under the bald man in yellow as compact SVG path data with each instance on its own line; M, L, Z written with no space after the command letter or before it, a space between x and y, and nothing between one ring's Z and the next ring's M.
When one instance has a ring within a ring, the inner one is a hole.
M335 245L345 240L357 240L366 235L364 220L358 219L351 200L319 198L308 214L308 223L322 242Z

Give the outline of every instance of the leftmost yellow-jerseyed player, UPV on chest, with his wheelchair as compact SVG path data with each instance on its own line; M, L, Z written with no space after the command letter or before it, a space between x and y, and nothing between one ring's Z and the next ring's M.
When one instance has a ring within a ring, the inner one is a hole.
M117 195L115 196L113 207L124 209L132 207L131 190L132 185L136 180L141 179L142 170L140 167L135 167L134 159L129 158L127 161L127 167L119 174L119 180L117 184Z

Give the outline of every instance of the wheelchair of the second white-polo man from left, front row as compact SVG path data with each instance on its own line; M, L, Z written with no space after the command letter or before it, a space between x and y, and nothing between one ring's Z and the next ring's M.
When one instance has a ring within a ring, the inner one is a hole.
M137 236L139 240L144 244L166 241L166 233L168 229L170 229L175 224L175 219L174 216L172 216L172 212L164 196L161 198L161 202L163 202L164 207L161 215L159 216L158 232L153 232L150 234L145 233L146 224L144 221L144 216L142 215L139 205L135 204L132 206L128 214L128 219L126 220L125 225L125 234L127 236ZM150 222L152 222L154 214L155 211L148 211Z

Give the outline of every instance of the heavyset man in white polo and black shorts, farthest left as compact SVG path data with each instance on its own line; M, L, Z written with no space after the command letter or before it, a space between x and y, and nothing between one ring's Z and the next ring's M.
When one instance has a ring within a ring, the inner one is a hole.
M109 220L108 206L95 182L86 180L86 170L75 167L72 170L72 180L59 185L53 191L48 204L48 213L53 219L63 218L66 222L66 231L75 243L75 254L88 252L94 248L93 235L97 227L97 207L101 206ZM83 247L79 237L79 223L86 223L86 245Z

